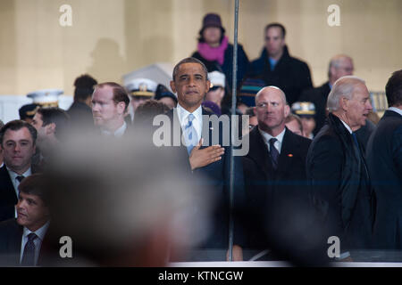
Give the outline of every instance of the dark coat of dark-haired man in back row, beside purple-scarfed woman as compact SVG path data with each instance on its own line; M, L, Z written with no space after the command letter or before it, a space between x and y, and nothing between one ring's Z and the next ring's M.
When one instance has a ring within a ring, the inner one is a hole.
M252 61L247 70L247 77L258 77L265 81L266 85L275 85L286 94L286 99L291 105L297 102L300 94L313 87L310 69L305 61L291 57L285 46L281 59L271 70L268 53L264 49L260 58Z

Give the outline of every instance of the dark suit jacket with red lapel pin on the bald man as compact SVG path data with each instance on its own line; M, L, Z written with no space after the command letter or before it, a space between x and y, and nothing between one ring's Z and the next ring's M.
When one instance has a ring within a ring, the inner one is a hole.
M272 167L268 147L258 127L249 133L249 142L250 151L243 158L249 225L247 248L287 249L294 239L292 231L296 229L292 227L295 224L289 223L306 216L306 154L311 140L286 128L277 170Z

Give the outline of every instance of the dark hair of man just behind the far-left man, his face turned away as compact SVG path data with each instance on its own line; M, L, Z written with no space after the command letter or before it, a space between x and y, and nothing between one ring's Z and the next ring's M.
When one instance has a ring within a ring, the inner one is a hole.
M42 115L43 126L55 124L54 135L57 139L61 139L61 134L65 133L70 126L70 116L65 110L57 107L40 108L37 113Z

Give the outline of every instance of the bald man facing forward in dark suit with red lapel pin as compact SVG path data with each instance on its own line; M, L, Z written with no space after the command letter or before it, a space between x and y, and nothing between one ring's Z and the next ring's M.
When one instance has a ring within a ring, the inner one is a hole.
M261 89L254 110L258 125L249 133L250 151L243 158L247 209L253 221L247 248L275 248L276 254L293 260L309 258L295 248L293 239L310 242L309 231L302 229L309 220L306 154L311 140L285 126L290 110L280 88Z

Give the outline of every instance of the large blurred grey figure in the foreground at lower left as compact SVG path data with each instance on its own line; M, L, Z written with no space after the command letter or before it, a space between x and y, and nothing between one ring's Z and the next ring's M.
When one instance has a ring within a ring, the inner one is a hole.
M183 178L187 165L174 150L130 137L69 138L50 161L48 187L49 237L71 238L71 257L49 265L163 266L203 239L211 201Z

